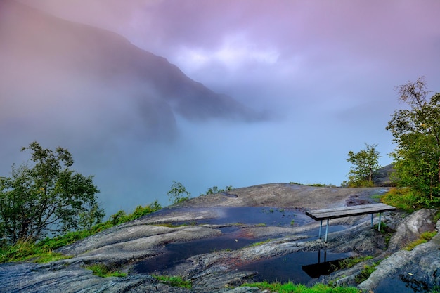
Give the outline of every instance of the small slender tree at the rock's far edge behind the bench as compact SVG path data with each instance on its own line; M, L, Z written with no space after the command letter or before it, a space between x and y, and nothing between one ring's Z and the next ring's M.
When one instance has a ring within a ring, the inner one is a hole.
M378 163L379 152L377 152L377 145L368 145L365 143L366 149L359 152L349 151L349 158L347 162L353 164L350 168L349 186L371 186L373 185L373 174L380 168Z

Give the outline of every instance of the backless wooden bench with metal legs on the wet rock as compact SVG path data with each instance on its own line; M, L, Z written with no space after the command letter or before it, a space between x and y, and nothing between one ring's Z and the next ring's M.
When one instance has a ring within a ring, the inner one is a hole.
M380 230L380 218L385 211L395 211L396 208L387 204L361 204L351 207L336 207L334 209L314 209L312 211L306 211L306 215L312 219L321 221L319 226L319 239L321 239L321 229L323 228L323 220L327 220L327 226L325 226L325 242L327 242L328 235L328 221L330 219L344 218L346 216L360 216L364 214L371 214L371 226L373 227L373 214L379 213L379 226Z

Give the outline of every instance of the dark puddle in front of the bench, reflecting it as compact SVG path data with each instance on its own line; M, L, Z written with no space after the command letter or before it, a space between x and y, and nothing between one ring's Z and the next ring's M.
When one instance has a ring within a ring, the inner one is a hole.
M250 263L238 271L256 271L256 282L294 282L306 284L320 275L329 275L337 261L349 257L349 253L294 252L286 256Z

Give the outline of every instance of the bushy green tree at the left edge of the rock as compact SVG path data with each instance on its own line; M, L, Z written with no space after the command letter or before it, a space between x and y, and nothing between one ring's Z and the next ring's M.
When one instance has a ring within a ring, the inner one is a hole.
M91 226L103 219L92 176L70 167L72 155L65 148L49 150L30 143L32 166L12 166L11 177L0 178L0 233L8 242L38 240Z

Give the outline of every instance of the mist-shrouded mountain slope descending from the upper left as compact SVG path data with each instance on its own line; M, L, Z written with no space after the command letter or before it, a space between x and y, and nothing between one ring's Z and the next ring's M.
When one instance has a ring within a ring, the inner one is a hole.
M13 0L0 1L0 65L0 126L32 134L85 127L162 140L176 135L177 115L261 119L118 34Z

